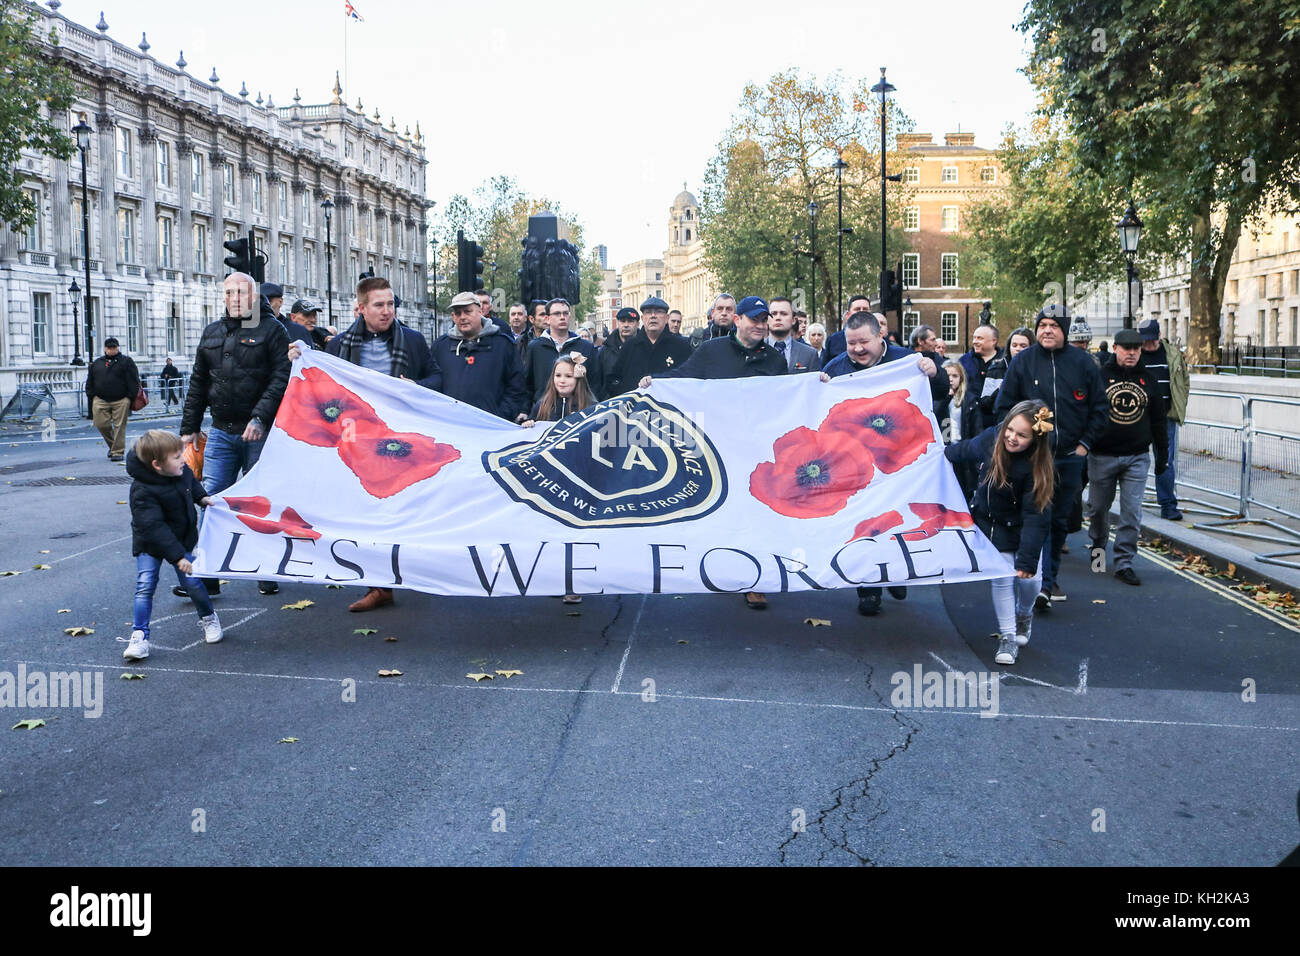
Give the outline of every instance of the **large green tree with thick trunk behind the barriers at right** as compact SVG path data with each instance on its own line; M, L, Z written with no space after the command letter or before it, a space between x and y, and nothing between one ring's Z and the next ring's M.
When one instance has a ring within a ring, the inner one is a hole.
M1019 27L1041 112L1063 121L1078 168L1148 224L1143 259L1169 239L1187 260L1188 360L1216 362L1243 225L1300 203L1300 3L1031 0ZM1114 235L1122 209L1092 228Z

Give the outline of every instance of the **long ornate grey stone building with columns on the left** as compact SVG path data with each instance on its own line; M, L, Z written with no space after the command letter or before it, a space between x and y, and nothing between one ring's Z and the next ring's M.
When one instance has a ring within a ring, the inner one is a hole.
M38 220L22 233L0 226L0 395L25 382L83 380L69 365L68 289L74 278L86 285L87 254L92 315L81 316L81 354L99 355L113 336L142 371L168 355L188 367L203 326L224 312L222 242L250 229L266 256L266 280L285 287L285 312L300 297L325 306L332 287L334 325L347 325L358 277L373 268L402 299L402 321L429 325L419 125L413 135L399 133L378 111L348 107L337 82L322 105L303 105L296 91L286 107L243 85L230 94L216 70L207 82L187 73L183 55L170 66L150 56L143 36L135 48L112 39L103 17L87 29L57 9L32 9L35 33L55 31L57 47L44 49L70 68L77 91L72 111L52 121L69 133L81 118L94 127L90 250L79 151L69 160L25 151Z

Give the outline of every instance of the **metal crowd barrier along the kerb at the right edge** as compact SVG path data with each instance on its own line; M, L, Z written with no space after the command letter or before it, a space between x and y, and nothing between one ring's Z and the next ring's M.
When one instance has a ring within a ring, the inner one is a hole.
M1179 427L1179 447L1175 485L1196 492L1235 499L1230 509L1205 498L1186 498L1199 507L1184 507L1191 514L1202 514L1213 520L1196 522L1193 528L1205 528L1254 541L1287 545L1283 550L1260 554L1266 564L1300 568L1300 562L1283 561L1300 555L1300 531L1273 518L1258 515L1258 509L1300 522L1300 434L1260 428L1257 410L1265 406L1300 410L1300 401L1270 397L1226 395L1218 392L1193 389L1193 397L1216 401L1239 401L1239 424L1187 419ZM1300 412L1296 412L1300 418ZM1205 429L1190 432L1190 429ZM1191 442L1188 442L1191 440ZM1182 451L1184 444L1193 444L1197 451ZM1153 507L1154 476L1148 476L1148 507ZM1262 525L1275 535L1245 531L1240 525Z

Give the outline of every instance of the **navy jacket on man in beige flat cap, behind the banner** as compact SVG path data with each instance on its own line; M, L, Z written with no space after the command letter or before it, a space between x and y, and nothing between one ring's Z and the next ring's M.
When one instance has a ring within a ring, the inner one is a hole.
M442 394L507 421L528 410L519 352L494 323L484 323L474 338L452 325L434 339L432 356L442 368Z

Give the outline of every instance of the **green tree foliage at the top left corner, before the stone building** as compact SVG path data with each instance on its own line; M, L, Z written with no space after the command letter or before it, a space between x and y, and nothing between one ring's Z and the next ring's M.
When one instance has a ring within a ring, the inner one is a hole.
M42 49L35 22L27 4L0 0L0 221L16 230L36 221L36 209L22 189L22 150L68 159L75 148L51 122L51 116L73 104L72 78L66 66ZM53 31L49 44L57 46Z

